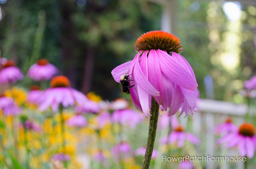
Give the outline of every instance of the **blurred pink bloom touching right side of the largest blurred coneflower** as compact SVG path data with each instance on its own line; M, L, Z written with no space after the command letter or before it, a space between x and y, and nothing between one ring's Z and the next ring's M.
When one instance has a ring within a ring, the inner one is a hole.
M76 113L98 113L101 110L101 107L97 102L88 100L83 105L77 105L75 108Z

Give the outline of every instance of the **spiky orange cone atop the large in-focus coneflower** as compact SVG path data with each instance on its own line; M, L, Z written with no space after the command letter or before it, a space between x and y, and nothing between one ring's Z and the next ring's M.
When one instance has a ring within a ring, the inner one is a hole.
M141 35L135 42L135 51L160 49L167 52L182 52L180 39L164 31L151 31Z

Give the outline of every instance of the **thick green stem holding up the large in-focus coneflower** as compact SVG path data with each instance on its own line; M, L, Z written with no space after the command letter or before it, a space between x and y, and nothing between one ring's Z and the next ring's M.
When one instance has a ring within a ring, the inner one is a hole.
M155 135L157 134L158 114L159 114L159 105L152 96L151 116L149 119L147 145L146 145L146 152L143 160L142 169L149 169L150 167L151 157L152 157L154 144L155 144Z

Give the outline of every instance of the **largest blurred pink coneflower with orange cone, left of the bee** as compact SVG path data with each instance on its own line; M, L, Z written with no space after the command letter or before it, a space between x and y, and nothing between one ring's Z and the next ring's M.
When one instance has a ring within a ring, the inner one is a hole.
M75 103L82 105L89 100L83 93L69 86L70 82L66 76L55 76L50 82L50 88L43 90L38 99L39 109L45 111L52 107L56 112L60 104L68 107L74 106Z

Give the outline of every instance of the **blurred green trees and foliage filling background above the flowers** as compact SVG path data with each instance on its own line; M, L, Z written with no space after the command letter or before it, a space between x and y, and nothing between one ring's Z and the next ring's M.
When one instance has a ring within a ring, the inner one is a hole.
M242 103L237 91L256 74L256 8L234 4L241 14L235 20L223 0L178 0L174 34L201 97L204 76L211 75L215 99ZM148 0L0 0L0 7L1 57L15 60L24 73L46 58L72 87L110 100L121 91L110 72L133 59L140 35L161 29L163 8Z

